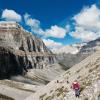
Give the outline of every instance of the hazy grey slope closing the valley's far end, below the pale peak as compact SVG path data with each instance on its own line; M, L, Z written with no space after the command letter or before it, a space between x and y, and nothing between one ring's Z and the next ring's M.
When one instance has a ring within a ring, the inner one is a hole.
M84 55L84 54L80 54L80 53L78 53L78 54L63 53L63 54L58 54L56 56L58 63L60 65L62 65L65 70L67 70L67 69L71 68L73 65L81 62L86 57L88 57L88 55Z

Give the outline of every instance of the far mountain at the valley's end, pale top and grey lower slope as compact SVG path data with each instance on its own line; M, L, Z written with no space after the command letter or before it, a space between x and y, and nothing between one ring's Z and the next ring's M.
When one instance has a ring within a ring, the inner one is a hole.
M59 64L62 65L65 70L67 70L73 65L82 61L84 58L86 58L88 55L84 55L80 53L80 50L84 45L87 45L87 43L80 43L80 44L77 43L77 44L67 46L70 47L71 49L68 49L65 46L65 51L68 52L58 53L56 55Z

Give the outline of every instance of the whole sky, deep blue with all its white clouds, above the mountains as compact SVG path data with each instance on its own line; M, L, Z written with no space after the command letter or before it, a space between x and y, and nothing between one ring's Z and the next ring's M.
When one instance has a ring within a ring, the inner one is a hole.
M99 11L99 0L0 0L0 20L19 22L41 37L47 46L65 46L99 37L99 23L92 25L94 21L100 21ZM89 18L87 14L94 16L89 22L85 20ZM97 29L96 34L93 28Z

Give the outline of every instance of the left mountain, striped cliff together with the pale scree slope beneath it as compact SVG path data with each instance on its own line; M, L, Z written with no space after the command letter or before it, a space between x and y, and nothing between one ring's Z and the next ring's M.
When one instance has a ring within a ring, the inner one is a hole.
M21 75L25 80L35 80L34 84L46 84L64 71L59 65L55 68L55 64L55 55L40 38L16 22L0 22L1 79L20 80L20 77L16 76ZM49 74L52 76L49 77Z

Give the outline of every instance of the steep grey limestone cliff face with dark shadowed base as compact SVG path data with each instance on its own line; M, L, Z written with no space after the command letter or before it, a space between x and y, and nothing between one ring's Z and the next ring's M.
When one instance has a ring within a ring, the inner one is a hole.
M0 22L0 77L23 74L29 68L45 68L55 56L43 41L16 22Z

